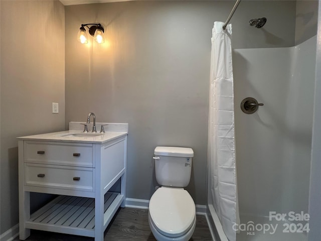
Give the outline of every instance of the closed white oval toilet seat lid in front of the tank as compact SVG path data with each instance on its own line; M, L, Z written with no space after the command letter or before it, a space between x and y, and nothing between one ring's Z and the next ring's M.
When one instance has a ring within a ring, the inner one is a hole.
M182 236L195 220L195 203L183 188L161 187L150 198L149 216L158 232L168 237Z

